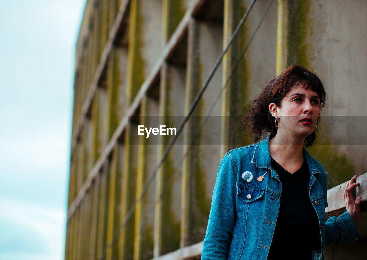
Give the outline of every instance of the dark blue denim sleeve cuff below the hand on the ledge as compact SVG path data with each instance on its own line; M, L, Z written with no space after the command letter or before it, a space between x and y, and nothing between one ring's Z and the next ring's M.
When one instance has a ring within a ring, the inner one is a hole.
M348 211L345 211L338 217L329 217L325 223L325 231L326 245L330 243L353 242L361 239Z

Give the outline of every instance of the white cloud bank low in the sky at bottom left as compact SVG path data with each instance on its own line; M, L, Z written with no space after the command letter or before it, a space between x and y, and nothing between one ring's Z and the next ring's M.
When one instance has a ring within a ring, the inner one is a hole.
M0 259L63 258L66 210L4 198L0 208Z

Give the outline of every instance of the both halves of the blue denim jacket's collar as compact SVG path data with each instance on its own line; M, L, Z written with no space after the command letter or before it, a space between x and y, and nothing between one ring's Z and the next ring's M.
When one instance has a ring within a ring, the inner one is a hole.
M252 165L258 168L265 168L265 169L272 169L272 162L270 159L270 152L269 152L269 137L266 137L264 140L258 142L256 144L256 148L254 151L254 156L252 157L251 163ZM308 170L313 175L317 172L321 174L326 174L327 172L321 166L319 162L313 159L308 152L306 151L305 147L303 147L303 155L306 159ZM317 163L315 163L317 162Z

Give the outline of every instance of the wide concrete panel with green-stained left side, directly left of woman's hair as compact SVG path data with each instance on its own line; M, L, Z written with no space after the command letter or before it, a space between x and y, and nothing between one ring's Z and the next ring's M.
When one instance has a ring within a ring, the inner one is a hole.
M224 2L223 48L228 44L230 36L247 11L249 3L250 1L247 0L226 0ZM251 35L255 32L258 23L265 14L269 3L270 0L257 1L252 7L232 46L224 56L222 85L226 83L237 60L250 41ZM275 76L276 11L277 5L275 2L224 90L221 155L233 148L252 143L250 136L244 132L241 120L243 120L244 111L246 111L251 100L266 86L267 81Z

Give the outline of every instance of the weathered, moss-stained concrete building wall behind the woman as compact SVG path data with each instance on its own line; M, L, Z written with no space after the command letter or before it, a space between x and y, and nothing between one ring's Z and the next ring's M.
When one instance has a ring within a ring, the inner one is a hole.
M137 135L138 125L178 128L250 2L87 0L65 259L200 258L219 162L252 142L239 118L291 64L314 70L328 89L318 143L308 150L329 172L329 188L366 172L362 0L273 1L232 75L271 2L258 0L165 160L171 136ZM363 257L365 244L328 246L325 259Z

